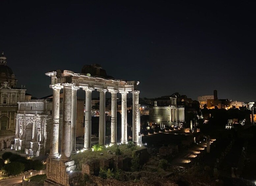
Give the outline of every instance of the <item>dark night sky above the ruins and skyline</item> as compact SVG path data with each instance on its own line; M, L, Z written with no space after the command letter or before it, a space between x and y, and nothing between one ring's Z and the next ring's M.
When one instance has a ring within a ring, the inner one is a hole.
M98 63L140 97L256 101L255 1L17 2L0 3L0 50L33 96L52 93L45 72Z

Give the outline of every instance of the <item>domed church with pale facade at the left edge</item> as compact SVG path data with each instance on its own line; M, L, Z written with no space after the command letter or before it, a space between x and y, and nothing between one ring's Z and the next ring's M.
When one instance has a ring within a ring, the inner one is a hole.
M15 128L18 120L15 116L18 110L18 101L28 100L24 87L16 87L16 76L7 66L7 57L4 52L0 56L0 150L11 146L15 137ZM17 134L16 134L17 135Z

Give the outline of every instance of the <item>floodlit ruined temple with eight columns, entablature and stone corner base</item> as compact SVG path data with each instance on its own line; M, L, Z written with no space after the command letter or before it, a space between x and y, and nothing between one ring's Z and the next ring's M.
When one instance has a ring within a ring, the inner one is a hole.
M132 140L140 145L140 113L138 81L116 80L112 78L94 77L88 74L74 73L69 70L55 70L45 73L51 77L50 88L53 90L53 109L50 153L47 158L47 180L44 185L69 185L72 179L72 170L75 169L71 153L75 152L75 127L76 127L76 91L83 89L85 99L85 129L84 150L91 148L91 94L92 91L100 92L100 119L99 119L99 144L105 145L105 93L111 93L111 143L117 144L117 93L122 95L122 136L121 143L127 140L127 94L132 93ZM60 90L63 89L63 119L61 152L58 151L59 143L59 109Z

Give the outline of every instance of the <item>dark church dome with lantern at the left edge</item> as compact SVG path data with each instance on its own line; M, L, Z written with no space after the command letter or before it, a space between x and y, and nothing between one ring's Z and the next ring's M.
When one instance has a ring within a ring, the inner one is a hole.
M16 76L13 70L6 65L6 56L4 56L4 51L0 56L0 84L8 82L11 88L16 86Z

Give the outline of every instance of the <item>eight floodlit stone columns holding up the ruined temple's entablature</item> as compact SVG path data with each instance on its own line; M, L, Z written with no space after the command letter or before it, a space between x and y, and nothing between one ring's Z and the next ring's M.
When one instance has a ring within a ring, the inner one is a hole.
M50 85L53 89L53 109L52 109L52 128L50 143L50 158L59 155L59 108L60 108L60 89L63 87L63 124L61 141L61 161L69 161L71 152L75 151L75 124L76 124L76 91L79 87L65 83L60 85ZM86 92L85 99L85 128L84 128L84 149L91 148L91 99L93 88L83 88ZM99 121L99 144L105 145L105 93L106 89L98 89L100 92L100 121ZM109 90L111 93L111 144L117 143L117 93L116 90ZM127 91L122 94L122 138L121 143L128 143L127 140ZM139 139L139 91L132 91L133 94L133 142L141 143Z

